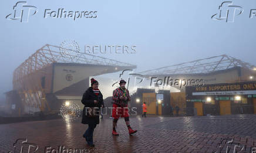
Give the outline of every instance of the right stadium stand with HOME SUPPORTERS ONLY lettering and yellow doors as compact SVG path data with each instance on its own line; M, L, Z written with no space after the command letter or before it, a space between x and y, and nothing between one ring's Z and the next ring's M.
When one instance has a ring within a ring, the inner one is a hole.
M256 67L234 57L208 57L139 74L147 82L133 103L146 102L148 114L169 115L171 107L175 114L176 106L181 115L256 113ZM149 88L155 92L142 93Z

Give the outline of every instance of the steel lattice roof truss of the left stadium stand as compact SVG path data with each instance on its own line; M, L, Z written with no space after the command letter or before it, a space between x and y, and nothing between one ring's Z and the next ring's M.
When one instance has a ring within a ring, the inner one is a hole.
M69 52L73 52L72 58L67 55L63 55L60 52L59 46L53 46L46 44L41 49L38 49L32 56L25 60L14 71L14 81L18 81L21 77L27 76L40 70L43 67L49 66L54 62L58 63L83 63L83 64L100 64L109 66L134 66L133 64L119 62L113 59L107 59L105 57L91 55L89 53L76 52L75 50L66 49Z

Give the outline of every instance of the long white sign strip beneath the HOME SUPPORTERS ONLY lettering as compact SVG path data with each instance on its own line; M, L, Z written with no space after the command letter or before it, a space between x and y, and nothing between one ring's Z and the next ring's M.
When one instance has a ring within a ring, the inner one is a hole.
M233 95L233 94L256 94L256 90L246 90L246 91L213 91L213 92L192 93L193 96L200 96L200 95Z

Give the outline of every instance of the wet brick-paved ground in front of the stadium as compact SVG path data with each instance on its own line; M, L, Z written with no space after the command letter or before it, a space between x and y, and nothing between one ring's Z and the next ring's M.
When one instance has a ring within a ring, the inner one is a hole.
M24 150L30 144L32 149L38 145L36 152L50 153L57 153L57 149L63 147L84 149L85 152L226 152L227 148L230 149L229 152L233 152L234 148L239 152L256 152L256 114L208 117L137 116L130 118L132 127L138 130L133 136L129 136L124 119L121 118L117 127L120 135L117 137L111 135L112 120L105 118L95 129L94 149L86 147L82 133L87 125L80 124L80 119L72 123L48 120L1 124L0 152L14 152L14 145L17 152L24 141L18 140L19 138L28 141L23 144ZM14 144L16 140L18 141ZM62 151L59 149L59 152Z

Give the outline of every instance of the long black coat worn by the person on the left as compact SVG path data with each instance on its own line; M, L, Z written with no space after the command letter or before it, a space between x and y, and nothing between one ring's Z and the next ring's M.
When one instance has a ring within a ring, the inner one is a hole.
M99 103L95 104L94 100L99 101ZM83 107L83 114L82 114L82 124L99 124L99 112L97 112L97 115L95 117L89 117L89 115L86 115L86 107L100 107L103 105L103 96L102 93L99 92L99 95L97 96L95 93L93 93L92 87L89 87L83 93L83 97L81 102L85 105Z

